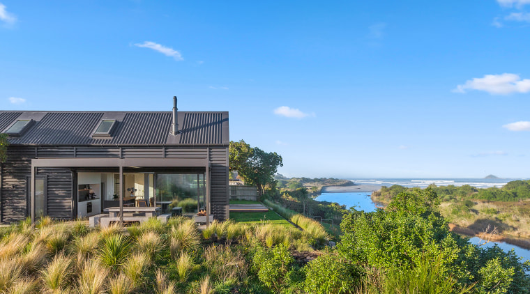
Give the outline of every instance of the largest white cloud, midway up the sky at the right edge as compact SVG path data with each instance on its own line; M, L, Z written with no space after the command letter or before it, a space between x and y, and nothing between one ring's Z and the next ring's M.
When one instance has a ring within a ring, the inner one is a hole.
M502 75L485 75L469 79L458 85L453 91L466 93L467 90L485 91L490 94L529 93L530 79L521 79L519 75L503 73Z

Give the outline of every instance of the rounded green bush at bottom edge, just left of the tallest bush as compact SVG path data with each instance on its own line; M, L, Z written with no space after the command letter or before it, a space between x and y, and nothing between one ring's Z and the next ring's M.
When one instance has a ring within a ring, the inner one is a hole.
M347 293L358 284L359 274L353 266L336 254L324 254L305 267L305 286L308 293Z

